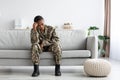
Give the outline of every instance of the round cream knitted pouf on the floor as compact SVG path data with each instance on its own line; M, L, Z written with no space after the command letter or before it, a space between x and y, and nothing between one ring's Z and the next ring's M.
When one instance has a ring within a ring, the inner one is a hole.
M88 76L108 76L111 72L111 64L104 59L88 59L84 62L84 71Z

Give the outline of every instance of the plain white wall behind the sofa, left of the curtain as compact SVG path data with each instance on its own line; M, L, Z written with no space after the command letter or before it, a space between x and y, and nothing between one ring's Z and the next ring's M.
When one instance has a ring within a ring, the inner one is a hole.
M0 0L0 13L0 29L12 29L13 20L19 18L31 26L36 15L59 27L64 22L82 29L104 26L104 0Z

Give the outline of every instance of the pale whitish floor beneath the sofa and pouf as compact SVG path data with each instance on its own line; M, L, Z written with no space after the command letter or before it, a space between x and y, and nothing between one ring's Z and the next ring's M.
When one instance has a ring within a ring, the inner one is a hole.
M62 76L54 76L54 67L40 67L40 76L31 77L33 67L0 66L0 80L120 80L120 61L109 60L112 71L107 77L88 77L82 66L61 67Z

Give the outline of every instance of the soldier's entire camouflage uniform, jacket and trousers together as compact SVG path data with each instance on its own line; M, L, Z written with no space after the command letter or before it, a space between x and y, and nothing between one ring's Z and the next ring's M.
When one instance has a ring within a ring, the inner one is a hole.
M53 27L45 25L44 32L41 32L39 27L37 27L36 31L31 29L31 43L32 62L34 64L39 65L39 54L44 51L53 52L55 64L60 64L62 51L59 38ZM43 48L40 47L40 44L43 44Z

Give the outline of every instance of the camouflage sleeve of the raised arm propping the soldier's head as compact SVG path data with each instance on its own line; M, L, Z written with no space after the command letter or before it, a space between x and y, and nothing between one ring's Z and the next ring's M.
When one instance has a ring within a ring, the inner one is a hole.
M31 29L31 43L38 44L39 43L39 35L37 31Z

